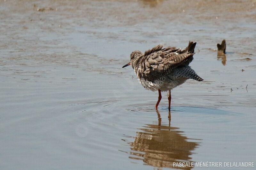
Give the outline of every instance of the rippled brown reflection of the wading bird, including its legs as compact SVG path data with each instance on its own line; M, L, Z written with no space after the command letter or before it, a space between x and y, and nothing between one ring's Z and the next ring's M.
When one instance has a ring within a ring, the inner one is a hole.
M136 132L131 146L130 159L141 159L146 165L191 169L191 167L173 167L173 162L191 162L189 155L198 146L197 142L188 142L177 127L172 127L171 112L169 125L161 125L161 116L156 111L158 124L146 124L142 131Z

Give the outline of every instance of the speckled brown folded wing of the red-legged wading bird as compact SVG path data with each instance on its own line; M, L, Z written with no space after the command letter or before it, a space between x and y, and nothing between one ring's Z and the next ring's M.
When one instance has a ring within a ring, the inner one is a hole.
M144 65L144 67L141 67L143 68L141 73L149 81L171 73L174 68L186 63L189 57L193 56L193 53L189 52L178 54L176 52L178 49L175 47L166 47L164 49L154 47L154 49L158 50L151 50L152 53L150 54L145 52L148 55L144 55L141 60L141 65Z

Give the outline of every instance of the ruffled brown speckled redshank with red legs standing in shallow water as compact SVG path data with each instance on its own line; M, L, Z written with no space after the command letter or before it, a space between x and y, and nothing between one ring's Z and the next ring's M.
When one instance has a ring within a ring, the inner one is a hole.
M161 91L168 92L169 110L171 108L171 90L183 84L187 79L203 81L196 72L190 68L193 60L196 42L188 43L187 48L166 47L159 44L141 53L133 51L131 61L123 66L131 65L140 84L147 90L158 90L157 109L162 99Z

